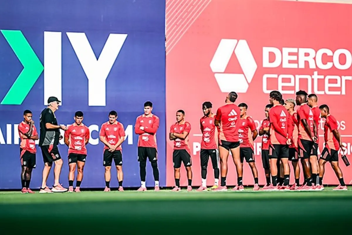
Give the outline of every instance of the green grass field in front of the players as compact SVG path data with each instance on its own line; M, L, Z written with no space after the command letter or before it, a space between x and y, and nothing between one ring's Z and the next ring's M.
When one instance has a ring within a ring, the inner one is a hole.
M321 192L0 192L0 234L23 224L33 234L325 234L349 231L351 221L352 190L331 187ZM51 229L56 226L60 229Z

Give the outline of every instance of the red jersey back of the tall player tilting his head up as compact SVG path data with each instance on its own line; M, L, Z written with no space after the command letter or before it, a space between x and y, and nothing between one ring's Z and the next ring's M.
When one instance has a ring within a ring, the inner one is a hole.
M219 140L238 142L238 119L240 109L233 103L227 103L216 111L215 120L220 122Z

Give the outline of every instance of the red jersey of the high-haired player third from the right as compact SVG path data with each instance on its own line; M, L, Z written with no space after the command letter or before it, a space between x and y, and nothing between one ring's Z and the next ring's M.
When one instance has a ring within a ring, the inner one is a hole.
M299 125L298 125L298 139L313 141L309 137L309 135L307 134L306 130L304 129L304 126L302 124L303 119L307 120L309 129L312 132L312 135L314 135L314 132L313 132L313 122L314 122L313 112L307 103L301 104L301 106L298 107L298 109L297 109L297 120L299 123Z

